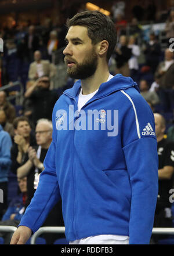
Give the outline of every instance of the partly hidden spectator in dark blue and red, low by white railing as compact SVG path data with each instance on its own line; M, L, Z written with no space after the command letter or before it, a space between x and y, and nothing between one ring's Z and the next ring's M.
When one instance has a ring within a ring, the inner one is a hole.
M18 226L25 210L27 199L27 177L17 178L20 193L10 201L9 206L3 214L0 226ZM0 232L3 237L3 244L9 244L12 234L8 232Z

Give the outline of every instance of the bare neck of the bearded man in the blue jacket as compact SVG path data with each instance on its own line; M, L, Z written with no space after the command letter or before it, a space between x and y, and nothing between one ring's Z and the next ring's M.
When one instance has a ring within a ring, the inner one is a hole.
M87 95L95 92L99 89L100 84L108 80L109 75L108 67L106 68L105 66L105 68L97 68L92 77L81 80L82 94Z

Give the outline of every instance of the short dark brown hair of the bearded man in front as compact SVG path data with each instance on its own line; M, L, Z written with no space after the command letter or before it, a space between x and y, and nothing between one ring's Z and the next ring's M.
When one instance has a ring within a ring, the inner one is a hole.
M98 10L85 10L67 20L67 27L70 28L71 26L86 27L93 45L103 40L108 41L107 61L110 59L117 43L115 26L110 17Z

